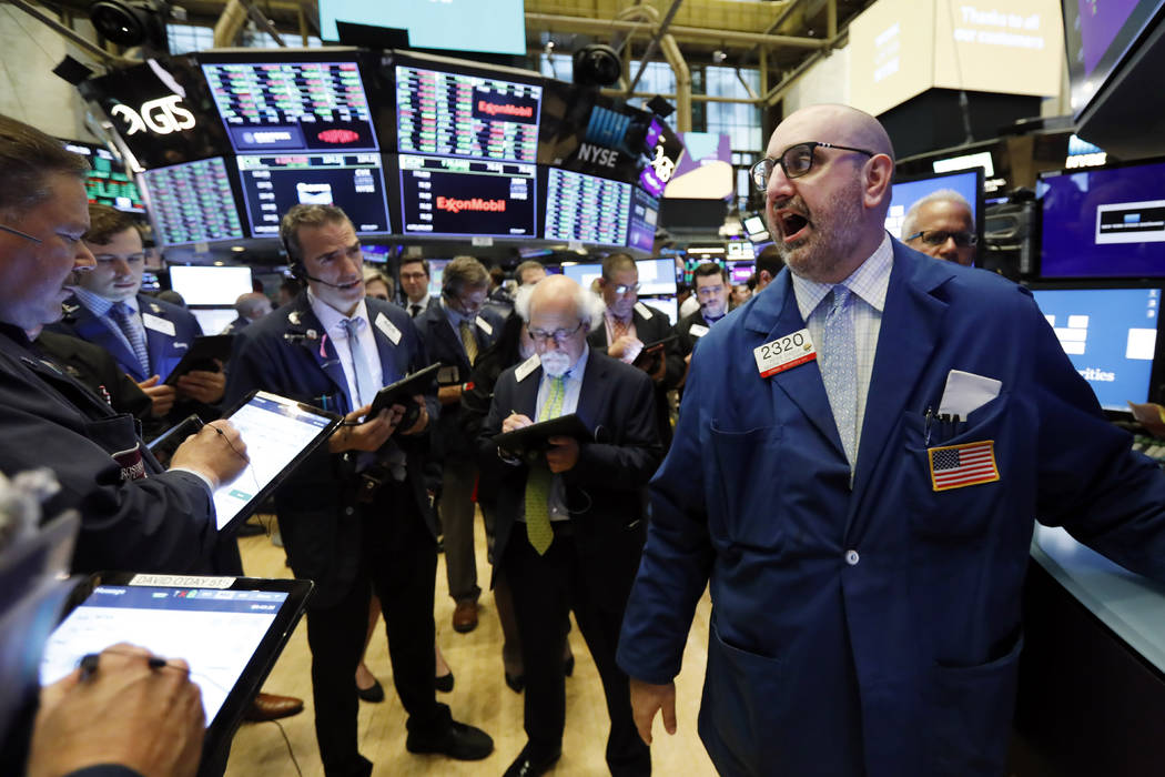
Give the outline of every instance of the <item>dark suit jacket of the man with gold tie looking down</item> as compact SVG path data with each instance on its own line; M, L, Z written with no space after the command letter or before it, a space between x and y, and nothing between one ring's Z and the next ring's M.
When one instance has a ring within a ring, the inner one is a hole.
M457 382L466 383L473 372L473 366L465 355L461 338L453 331L445 315L445 308L438 301L428 310L412 319L425 341L425 349L431 362L440 362L446 367L457 368ZM474 319L473 338L478 341L478 354L483 353L501 335L506 322L494 311L483 309ZM442 408L440 421L433 426L432 458L444 460L449 457L472 457L473 439L461 433L460 403Z

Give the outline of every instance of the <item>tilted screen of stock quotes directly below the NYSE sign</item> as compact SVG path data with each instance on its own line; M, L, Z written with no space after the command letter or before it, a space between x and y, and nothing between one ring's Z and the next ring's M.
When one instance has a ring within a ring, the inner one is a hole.
M603 246L627 242L630 184L558 168L546 172L546 228L543 233L546 240Z

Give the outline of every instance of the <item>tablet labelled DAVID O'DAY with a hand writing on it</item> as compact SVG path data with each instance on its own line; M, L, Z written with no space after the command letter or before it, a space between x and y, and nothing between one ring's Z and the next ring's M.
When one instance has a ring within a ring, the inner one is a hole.
M99 572L73 592L49 636L41 684L56 683L82 657L119 642L182 658L203 694L205 757L230 746L312 587L310 580Z

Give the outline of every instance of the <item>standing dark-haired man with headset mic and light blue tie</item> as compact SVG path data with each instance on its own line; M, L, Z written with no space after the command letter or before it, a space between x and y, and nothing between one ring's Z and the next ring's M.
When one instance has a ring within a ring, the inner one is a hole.
M393 635L393 680L409 713L405 747L483 758L489 736L452 720L433 697L437 538L422 471L436 396L367 415L381 387L428 365L424 345L405 311L365 296L360 241L344 211L296 205L280 236L308 288L238 335L226 398L264 389L345 415L327 447L275 494L291 568L317 585L306 621L324 772L372 774L358 748L352 677L373 592Z

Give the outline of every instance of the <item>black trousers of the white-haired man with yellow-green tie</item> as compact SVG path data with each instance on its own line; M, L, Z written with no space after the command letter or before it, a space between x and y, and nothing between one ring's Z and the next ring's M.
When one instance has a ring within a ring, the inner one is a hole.
M615 647L627 596L601 601L584 570L569 523L555 523L555 541L545 556L530 545L525 524L516 523L502 564L514 591L514 610L522 637L525 670L525 734L536 755L562 748L566 726L566 683L563 673L563 622L574 612L579 631L599 669L610 716L607 765L615 777L651 774L651 751L631 718L627 674L615 665Z

